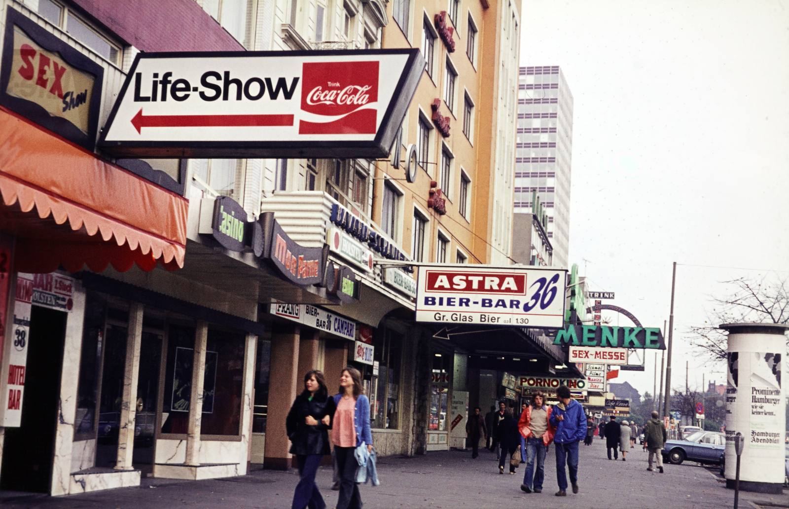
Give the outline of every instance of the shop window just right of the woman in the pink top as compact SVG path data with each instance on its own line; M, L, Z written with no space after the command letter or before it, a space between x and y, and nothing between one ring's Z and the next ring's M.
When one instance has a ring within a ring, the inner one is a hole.
M372 376L370 384L371 426L399 429L402 335L387 328L377 336L373 358L379 365L378 376Z

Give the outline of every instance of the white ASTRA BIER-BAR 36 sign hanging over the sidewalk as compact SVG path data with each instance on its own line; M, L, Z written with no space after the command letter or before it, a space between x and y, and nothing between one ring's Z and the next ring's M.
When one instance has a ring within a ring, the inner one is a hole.
M424 265L417 321L559 328L566 270L486 265Z

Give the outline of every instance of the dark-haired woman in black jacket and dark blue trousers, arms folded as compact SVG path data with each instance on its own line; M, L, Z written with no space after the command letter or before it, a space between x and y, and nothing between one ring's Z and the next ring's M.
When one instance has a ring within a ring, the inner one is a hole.
M327 429L335 413L335 400L328 397L326 380L317 369L304 376L304 391L296 396L285 420L285 428L292 445L290 454L296 455L301 480L296 485L292 509L325 509L326 503L315 484L315 474L324 455L330 455Z

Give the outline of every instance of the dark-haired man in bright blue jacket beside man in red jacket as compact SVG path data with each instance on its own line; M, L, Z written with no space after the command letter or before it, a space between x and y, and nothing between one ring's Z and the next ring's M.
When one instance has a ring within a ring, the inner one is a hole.
M560 385L556 389L559 404L553 407L551 425L556 429L553 441L556 445L556 480L559 491L556 496L567 496L567 464L570 470L570 484L573 492L578 493L578 442L586 436L586 415L581 403L570 397L570 388Z

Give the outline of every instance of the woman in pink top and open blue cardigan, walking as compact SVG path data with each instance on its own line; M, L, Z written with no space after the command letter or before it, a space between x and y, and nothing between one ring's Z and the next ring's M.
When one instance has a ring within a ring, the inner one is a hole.
M340 392L334 397L335 417L331 423L331 441L335 444L337 468L340 472L340 492L337 509L361 509L361 496L356 483L359 467L354 452L366 446L372 453L370 433L370 400L361 385L361 373L346 366L340 376ZM322 509L316 507L316 509Z

